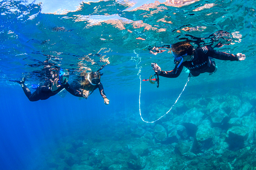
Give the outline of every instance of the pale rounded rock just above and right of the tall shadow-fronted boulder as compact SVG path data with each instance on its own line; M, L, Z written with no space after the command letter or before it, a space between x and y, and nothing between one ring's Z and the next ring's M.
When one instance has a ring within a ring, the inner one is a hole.
M212 109L212 112L210 112L210 117L212 119L212 123L221 124L224 121L227 121L228 114L226 114L222 109L215 107Z

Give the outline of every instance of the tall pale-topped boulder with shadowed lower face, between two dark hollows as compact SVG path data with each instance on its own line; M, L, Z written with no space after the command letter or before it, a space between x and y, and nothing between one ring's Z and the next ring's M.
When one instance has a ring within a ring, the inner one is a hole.
M205 151L210 148L214 138L214 131L208 125L199 125L194 140L195 151Z

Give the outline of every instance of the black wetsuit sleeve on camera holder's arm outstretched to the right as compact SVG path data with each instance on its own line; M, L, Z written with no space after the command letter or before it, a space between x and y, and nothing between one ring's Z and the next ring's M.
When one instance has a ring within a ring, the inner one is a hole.
M213 57L219 60L238 61L237 55L216 51L211 46L202 47L200 50L201 52L207 54L209 57Z

